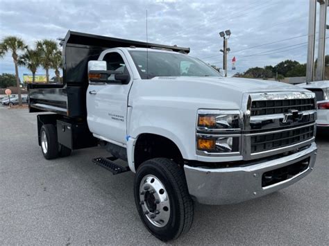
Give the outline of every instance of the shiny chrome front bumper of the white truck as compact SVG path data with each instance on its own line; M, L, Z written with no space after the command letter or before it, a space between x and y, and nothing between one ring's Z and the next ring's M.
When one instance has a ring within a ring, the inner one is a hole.
M271 161L245 167L199 168L184 166L189 194L202 204L232 204L261 197L294 184L309 174L315 163L317 146ZM262 187L262 176L310 157L309 166L282 182Z

